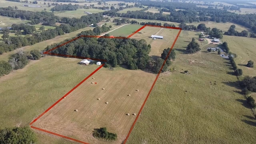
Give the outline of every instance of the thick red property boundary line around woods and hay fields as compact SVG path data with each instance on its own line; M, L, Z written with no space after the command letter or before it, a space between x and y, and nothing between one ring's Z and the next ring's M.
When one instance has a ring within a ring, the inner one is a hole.
M152 89L154 88L154 85L156 84L156 81L158 80L158 77L159 77L159 75L160 75L160 73L161 73L161 71L162 71L162 69L163 69L163 67L164 67L164 64L166 63L166 60L168 59L168 57L169 57L169 55L170 55L170 53L171 53L171 51L172 51L172 49L173 49L173 47L174 47L174 45L175 45L175 43L176 43L176 41L177 41L177 39L178 39L178 37L179 37L180 32L181 32L182 29L181 29L181 28L176 28L176 27L168 27L168 26L144 25L144 26L142 26L140 29L136 30L134 33L130 34L130 35L127 36L127 37L85 36L85 35L81 35L81 36L78 36L78 37L76 37L76 38L73 38L72 40L69 40L68 42L64 42L63 44L60 44L60 45L58 45L58 46L56 46L56 47L54 47L54 48L52 48L52 49L47 50L46 52L44 52L44 54L49 54L49 55L54 55L54 56L62 56L62 57L68 57L68 58L86 59L85 57L80 57L80 56L71 56L71 55L64 55L64 54L56 54L56 53L52 53L51 51L53 51L53 50L55 50L55 49L57 49L57 48L60 48L61 46L64 46L64 45L66 45L66 44L68 44L68 43L70 43L70 42L73 42L73 41L77 40L78 38L82 38L82 37L86 37L86 38L120 38L120 39L128 39L128 38L130 38L131 36L133 36L134 34L136 34L137 32L139 32L140 30L142 30L143 28L145 28L146 26L152 26L152 27L158 27L158 28L176 29L176 30L179 30L179 32L178 32L178 34L177 34L177 36L176 36L176 38L175 38L175 40L174 40L174 42L173 42L173 44L172 44L172 46L171 46L171 48L170 48L170 51L168 52L168 54L167 54L167 56L166 56L166 58L165 58L165 60L164 60L164 63L162 64L162 67L160 68L160 70L159 70L159 72L158 72L158 74L157 74L157 76L156 76L156 78L155 78L155 80L154 80L154 82L153 82L153 84L152 84L152 86L151 86L149 92L148 92L148 95L146 96L146 99L144 100L144 102L143 102L143 104L142 104L142 107L140 108L140 111L138 112L138 115L136 116L136 118L135 118L135 120L134 120L134 122L133 122L133 124L132 124L132 126L131 126L131 128L130 128L130 130L129 130L129 132L128 132L128 134L127 134L127 136L126 136L126 138L125 138L125 140L124 140L124 142L123 142L122 144L126 144L128 138L129 138L129 136L130 136L130 134L131 134L131 132L132 132L132 129L134 128L134 126L135 126L135 124L136 124L136 122L137 122L137 120L138 120L138 117L140 116L140 113L142 112L142 110L143 110L143 108L144 108L144 106L145 106L145 104L146 104L146 101L148 100L148 97L150 96L150 93L151 93ZM100 60L100 59L95 59L95 58L90 58L90 59L91 59L91 60L98 60L98 61L106 62L106 60ZM97 68L96 70L94 70L94 72L92 72L89 76L87 76L86 78L84 78L84 80L82 80L79 84L77 84L74 88L72 88L72 90L70 90L68 93L66 93L64 96L62 96L62 97L61 97L58 101L56 101L52 106L50 106L47 110L45 110L42 114L40 114L37 118L35 118L32 122L30 122L30 124L29 124L30 127L31 127L31 128L34 128L34 129L36 129L36 130L40 130L40 131L42 131L42 132L46 132L46 133L48 133L48 134L53 134L53 135L55 135L55 136L60 136L60 137L62 137L62 138L66 138L66 139L68 139L68 140L72 140L72 141L75 141L75 142L80 142L80 143L82 143L82 144L88 144L88 143L86 143L86 142L82 142L82 141L80 141L80 140L76 140L76 139L74 139L74 138L70 138L70 137L68 137L68 136L64 136L64 135L61 135L61 134L57 134L57 133L54 133L54 132L50 132L50 131L48 131L48 130L44 130L44 129L41 129L41 128L37 128L37 127L35 127L35 126L32 126L32 124L33 124L34 122L36 122L39 118L41 118L44 114L46 114L46 112L48 112L50 109L52 109L52 108L53 108L56 104L58 104L62 99L64 99L64 97L68 96L68 94L70 94L72 91L74 91L74 90L75 90L78 86L80 86L84 81L86 81L88 78L90 78L90 76L92 76L94 73L96 73L98 70L100 70L100 68L102 68L103 66L104 66L104 64L102 64L99 68Z

